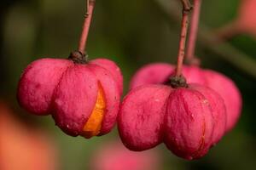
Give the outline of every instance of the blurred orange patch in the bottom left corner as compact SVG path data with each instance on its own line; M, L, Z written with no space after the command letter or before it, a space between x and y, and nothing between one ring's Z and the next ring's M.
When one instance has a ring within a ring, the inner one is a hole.
M54 144L46 134L30 129L0 101L0 169L55 170Z

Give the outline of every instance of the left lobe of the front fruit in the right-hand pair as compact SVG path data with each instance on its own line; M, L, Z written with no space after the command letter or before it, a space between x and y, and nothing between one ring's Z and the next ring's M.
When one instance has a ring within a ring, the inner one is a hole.
M146 85L131 90L119 111L119 134L130 150L148 150L162 142L166 99L172 88Z

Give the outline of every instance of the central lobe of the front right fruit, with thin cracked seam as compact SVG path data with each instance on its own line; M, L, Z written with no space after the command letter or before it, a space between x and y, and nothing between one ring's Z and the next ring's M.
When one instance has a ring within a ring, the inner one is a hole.
M167 100L165 144L177 156L198 159L207 154L212 145L214 120L212 103L201 93L200 85L177 88Z

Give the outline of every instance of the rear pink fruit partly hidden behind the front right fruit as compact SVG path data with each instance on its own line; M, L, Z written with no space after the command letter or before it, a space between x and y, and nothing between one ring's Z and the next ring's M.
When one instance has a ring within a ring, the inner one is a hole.
M132 77L131 88L145 84L163 84L174 73L175 69L172 65L163 63L146 65ZM159 75L160 78L151 77L151 75ZM241 115L241 94L236 84L229 77L216 71L203 70L197 66L184 65L183 76L189 83L205 85L220 94L227 110L226 132L230 131Z

